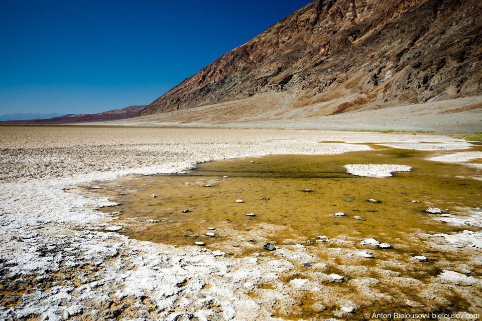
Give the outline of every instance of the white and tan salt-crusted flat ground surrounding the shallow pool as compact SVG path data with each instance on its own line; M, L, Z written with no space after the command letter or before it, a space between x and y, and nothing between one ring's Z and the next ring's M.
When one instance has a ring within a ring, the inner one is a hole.
M354 142L457 149L461 159L467 157L460 150L469 148L464 141L427 134L0 127L0 319L322 320L367 319L366 313L378 319L372 313L430 313L446 306L479 313L480 232L414 233L417 253L405 253L400 243L391 246L401 251L390 251L377 240L340 235L315 244L287 240L276 251L237 257L226 255L229 244L175 248L108 232L123 227L109 211L113 204L73 188L132 173L181 172L227 157L371 148ZM434 218L482 227L479 209ZM285 228L264 225L240 233L216 227L239 244L253 237L268 240ZM455 254L464 260L448 259ZM437 272L427 274L433 269Z

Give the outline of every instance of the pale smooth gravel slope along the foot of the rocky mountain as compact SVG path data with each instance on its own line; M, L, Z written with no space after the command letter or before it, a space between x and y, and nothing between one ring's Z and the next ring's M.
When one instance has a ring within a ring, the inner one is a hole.
M281 94L280 94L281 95ZM289 100L289 99L287 99ZM340 98L339 103L345 100ZM473 133L482 131L482 96L379 109L369 105L354 112L329 115L327 103L274 108L269 102L226 102L121 121L111 125L220 126L320 130L398 130ZM323 115L325 116L319 116Z

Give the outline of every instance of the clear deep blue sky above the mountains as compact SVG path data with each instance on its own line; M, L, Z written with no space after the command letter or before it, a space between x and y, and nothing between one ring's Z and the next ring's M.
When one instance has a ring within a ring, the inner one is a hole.
M2 1L0 114L149 104L310 2Z

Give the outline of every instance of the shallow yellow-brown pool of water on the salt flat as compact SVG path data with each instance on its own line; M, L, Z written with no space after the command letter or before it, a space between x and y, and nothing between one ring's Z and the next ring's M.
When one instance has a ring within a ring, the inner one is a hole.
M208 227L226 223L238 230L259 223L291 228L275 235L273 242L297 236L314 240L318 235L390 242L407 233L458 230L434 222L435 215L424 212L429 206L451 213L458 206L481 205L482 181L470 178L481 175L476 169L424 160L434 152L375 146L376 150L341 155L226 159L199 164L197 170L187 174L131 176L95 183L105 187L102 190L85 188L122 204L111 208L122 212L118 222L135 219L135 226L128 225L122 231L125 235L176 245L226 239L222 231L215 231L215 238L205 236ZM475 146L472 150L482 148ZM413 169L393 173L390 178L366 178L347 174L343 167L347 164L396 164ZM201 186L206 184L212 187ZM307 189L311 192L305 192ZM151 194L158 197L149 197ZM266 197L269 200L262 199ZM236 203L237 199L244 203ZM184 210L192 212L182 213ZM336 212L346 216L336 217ZM256 216L246 216L248 213Z

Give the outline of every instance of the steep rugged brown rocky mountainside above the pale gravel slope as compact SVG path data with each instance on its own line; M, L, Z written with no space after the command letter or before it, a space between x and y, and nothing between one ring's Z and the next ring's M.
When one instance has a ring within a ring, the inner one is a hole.
M318 105L311 117L481 95L481 13L479 0L316 0L137 116L262 100L277 116Z

